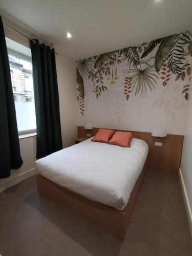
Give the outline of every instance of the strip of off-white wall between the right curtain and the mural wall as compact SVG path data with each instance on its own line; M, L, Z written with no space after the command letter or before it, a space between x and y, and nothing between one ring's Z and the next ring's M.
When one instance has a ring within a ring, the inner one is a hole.
M63 147L74 144L77 136L76 63L56 55Z

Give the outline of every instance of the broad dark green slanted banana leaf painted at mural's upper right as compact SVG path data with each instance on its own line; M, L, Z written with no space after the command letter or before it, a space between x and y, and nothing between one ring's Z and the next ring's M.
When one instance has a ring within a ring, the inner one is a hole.
M173 45L175 37L176 37L176 34L166 36L161 41L161 44L155 56L155 69L158 73L165 62L165 59L169 53L170 48Z

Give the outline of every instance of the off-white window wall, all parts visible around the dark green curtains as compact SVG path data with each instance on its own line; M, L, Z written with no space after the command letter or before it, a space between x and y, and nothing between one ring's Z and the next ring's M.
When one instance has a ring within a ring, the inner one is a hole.
M20 31L29 37L39 38L38 35L29 33L27 30L13 24L7 18L3 17L3 22L10 27ZM29 40L25 37L5 29L6 37L29 47ZM76 93L76 63L74 60L61 54L56 55L56 68L58 91L60 101L60 118L63 147L75 143L77 136L76 114L78 111ZM6 179L0 179L0 192L4 189L28 178L35 174L35 156L36 156L36 136L19 139L20 152L23 159L23 165L17 170L11 170L11 176Z

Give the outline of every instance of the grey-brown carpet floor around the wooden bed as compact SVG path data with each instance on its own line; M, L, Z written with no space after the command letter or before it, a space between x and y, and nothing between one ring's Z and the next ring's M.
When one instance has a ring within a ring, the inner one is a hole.
M31 177L0 193L2 256L191 256L178 175L148 171L122 243L37 192Z

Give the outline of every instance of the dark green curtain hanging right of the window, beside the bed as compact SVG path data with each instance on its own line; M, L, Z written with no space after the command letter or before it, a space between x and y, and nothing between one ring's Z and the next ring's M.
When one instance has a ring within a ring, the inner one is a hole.
M62 149L59 94L54 49L31 40L37 123L37 158Z

